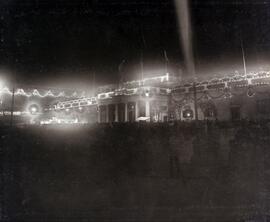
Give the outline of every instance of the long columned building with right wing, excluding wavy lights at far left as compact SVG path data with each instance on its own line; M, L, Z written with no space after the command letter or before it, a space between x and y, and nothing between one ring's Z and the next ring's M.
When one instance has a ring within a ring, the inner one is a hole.
M166 74L102 87L96 97L61 102L55 109L82 107L92 107L92 122L99 123L269 119L270 72L189 83Z

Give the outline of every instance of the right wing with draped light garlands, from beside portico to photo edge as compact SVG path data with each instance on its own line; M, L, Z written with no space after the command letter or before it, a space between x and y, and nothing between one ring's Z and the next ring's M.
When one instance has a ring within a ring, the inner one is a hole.
M181 84L171 91L172 115L176 120L235 121L269 119L270 72L233 75L210 81Z

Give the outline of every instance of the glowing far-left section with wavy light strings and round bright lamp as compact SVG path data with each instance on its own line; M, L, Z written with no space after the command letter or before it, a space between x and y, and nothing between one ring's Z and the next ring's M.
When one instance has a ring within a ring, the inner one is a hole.
M43 89L22 89L14 91L13 118L16 124L37 124L40 119L50 116L50 106L67 99L84 96L84 92ZM0 121L10 124L12 110L12 91L6 86L0 88Z

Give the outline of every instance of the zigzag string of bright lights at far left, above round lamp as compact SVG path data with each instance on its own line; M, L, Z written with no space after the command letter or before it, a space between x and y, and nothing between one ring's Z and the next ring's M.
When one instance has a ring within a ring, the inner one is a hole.
M0 90L0 94L12 95L12 91L8 89L7 87L4 87L3 89ZM75 91L72 94L68 95L64 91L60 93L53 93L51 90L47 90L44 93L40 93L37 89L34 89L31 92L25 92L24 89L16 89L16 91L14 92L14 95L26 96L26 97L38 96L42 98L44 97L82 98L82 97L85 97L85 92L78 93Z

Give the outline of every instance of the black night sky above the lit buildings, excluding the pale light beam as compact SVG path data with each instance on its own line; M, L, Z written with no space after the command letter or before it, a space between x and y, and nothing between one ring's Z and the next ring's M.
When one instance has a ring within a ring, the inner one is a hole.
M137 79L145 71L183 66L173 0L2 0L0 68L25 84L116 82L118 66ZM248 69L270 60L270 1L193 0L198 75L241 71L242 36ZM3 74L4 75L4 74ZM9 78L9 77L8 77Z

